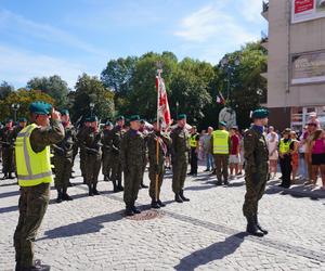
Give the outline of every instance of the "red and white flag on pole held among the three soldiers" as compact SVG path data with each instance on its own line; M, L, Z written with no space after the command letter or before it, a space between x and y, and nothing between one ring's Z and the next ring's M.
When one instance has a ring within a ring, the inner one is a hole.
M156 76L156 88L158 91L158 118L164 120L162 126L167 127L171 124L170 109L167 99L165 81L160 75Z

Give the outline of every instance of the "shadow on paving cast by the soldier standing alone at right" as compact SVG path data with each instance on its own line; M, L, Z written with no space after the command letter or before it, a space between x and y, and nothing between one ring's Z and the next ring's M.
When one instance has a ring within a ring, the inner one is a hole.
M219 242L204 249L194 251L181 259L180 263L176 266L174 269L180 271L194 270L210 261L222 259L227 255L233 254L240 246L247 235L248 234L246 232L239 232L226 237L223 242Z

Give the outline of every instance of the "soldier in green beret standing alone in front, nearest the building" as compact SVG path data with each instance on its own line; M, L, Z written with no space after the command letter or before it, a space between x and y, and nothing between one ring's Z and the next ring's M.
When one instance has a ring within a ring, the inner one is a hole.
M266 109L255 111L253 126L244 136L246 195L243 212L247 219L246 231L256 236L268 234L258 222L258 202L263 196L269 172L269 151L263 134L268 116Z

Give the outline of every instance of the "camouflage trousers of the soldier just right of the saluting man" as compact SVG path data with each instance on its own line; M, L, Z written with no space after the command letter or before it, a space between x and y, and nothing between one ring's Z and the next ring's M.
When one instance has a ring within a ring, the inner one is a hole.
M73 157L54 156L53 165L55 169L55 189L67 189L72 176Z

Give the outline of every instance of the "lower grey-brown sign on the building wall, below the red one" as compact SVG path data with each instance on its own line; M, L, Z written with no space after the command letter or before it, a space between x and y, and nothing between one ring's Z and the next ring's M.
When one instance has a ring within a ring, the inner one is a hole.
M325 82L325 51L291 56L291 83Z

